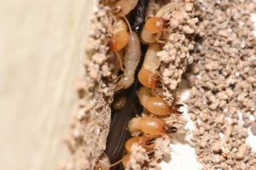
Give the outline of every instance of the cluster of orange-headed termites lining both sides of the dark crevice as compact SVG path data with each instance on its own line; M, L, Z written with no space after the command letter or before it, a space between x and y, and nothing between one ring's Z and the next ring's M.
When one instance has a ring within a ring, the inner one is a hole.
M131 146L133 144L141 145L145 150L152 152L154 150L154 141L160 136L176 133L177 127L172 127L162 119L170 116L172 113L181 113L178 111L181 105L168 105L166 100L160 95L157 88L160 86L160 59L157 53L161 50L161 35L167 30L168 20L160 16L160 12L150 11L150 5L154 1L149 1L145 25L140 35L131 30L129 21L125 15L129 14L137 6L138 0L119 0L111 5L112 14L115 16L115 22L112 26L112 37L110 39L110 48L116 55L118 61L116 67L123 73L117 82L117 91L131 87L134 82L135 72L139 64L142 52L141 43L148 45L144 56L143 66L139 70L137 78L143 85L137 90L137 97L143 105L144 112L148 116L137 116L131 119L128 129L130 133L139 133L125 142L126 155L122 159L124 167L131 156ZM155 8L154 8L155 10Z

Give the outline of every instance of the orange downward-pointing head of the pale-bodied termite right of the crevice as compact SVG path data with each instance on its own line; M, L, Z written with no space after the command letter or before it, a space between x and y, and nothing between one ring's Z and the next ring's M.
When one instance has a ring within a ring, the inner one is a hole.
M146 68L142 68L138 73L138 80L147 88L154 89L158 82L158 76L152 71L148 71Z

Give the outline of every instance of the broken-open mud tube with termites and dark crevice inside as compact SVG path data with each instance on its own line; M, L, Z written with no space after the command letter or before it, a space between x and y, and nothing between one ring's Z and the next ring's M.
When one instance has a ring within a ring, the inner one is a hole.
M67 140L81 169L159 169L174 134L185 132L175 90L198 20L193 0L170 2L100 3Z

